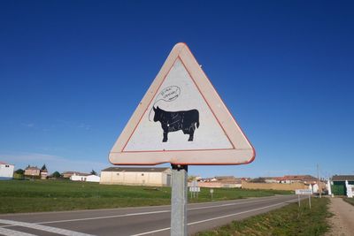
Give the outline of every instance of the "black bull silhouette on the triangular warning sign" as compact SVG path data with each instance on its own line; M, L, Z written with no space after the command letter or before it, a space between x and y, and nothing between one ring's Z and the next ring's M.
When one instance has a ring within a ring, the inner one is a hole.
M166 111L159 107L153 107L155 111L154 121L160 122L164 131L164 139L167 141L167 134L181 130L184 134L189 134L189 141L193 141L194 131L199 127L198 110Z

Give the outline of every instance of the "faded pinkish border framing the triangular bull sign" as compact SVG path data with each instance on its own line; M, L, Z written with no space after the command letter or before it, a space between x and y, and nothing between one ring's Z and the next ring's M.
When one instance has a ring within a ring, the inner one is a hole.
M196 84L205 102L208 104L215 118L227 135L234 148L227 149L204 149L204 150L153 150L153 151L124 151L127 142L141 122L150 103L158 93L165 77L173 67L174 62L180 58L182 64L189 72L191 79ZM240 135L241 134L241 135ZM255 149L237 125L235 118L221 100L219 94L212 86L203 70L196 62L196 58L190 52L185 43L177 43L165 64L158 72L156 79L150 85L147 93L143 96L133 116L127 122L127 126L120 134L109 155L112 164L127 165L150 165L150 164L249 164L256 156Z

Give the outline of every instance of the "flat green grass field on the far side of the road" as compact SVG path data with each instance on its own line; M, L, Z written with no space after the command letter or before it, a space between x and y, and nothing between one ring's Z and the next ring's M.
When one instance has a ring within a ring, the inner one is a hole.
M106 186L69 180L0 181L0 214L35 211L105 209L170 204L170 187ZM214 189L213 201L290 194L289 191ZM209 189L189 202L212 201Z

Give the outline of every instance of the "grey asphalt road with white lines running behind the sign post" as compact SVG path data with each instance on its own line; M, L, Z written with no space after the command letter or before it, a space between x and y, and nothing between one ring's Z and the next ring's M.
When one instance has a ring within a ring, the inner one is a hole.
M296 202L296 195L189 204L189 234ZM0 235L170 235L170 206L0 215Z

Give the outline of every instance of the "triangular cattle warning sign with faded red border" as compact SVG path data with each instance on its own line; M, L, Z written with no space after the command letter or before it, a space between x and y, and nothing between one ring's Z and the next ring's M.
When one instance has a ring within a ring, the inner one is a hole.
M249 164L255 150L177 43L114 144L112 164Z

